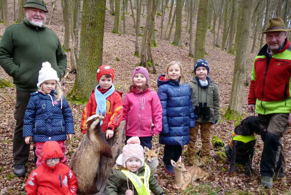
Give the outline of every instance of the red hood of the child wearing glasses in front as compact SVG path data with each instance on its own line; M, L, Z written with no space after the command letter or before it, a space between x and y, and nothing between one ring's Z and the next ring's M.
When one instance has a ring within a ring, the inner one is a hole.
M63 158L64 155L62 153L62 150L60 146L58 145L58 142L56 141L46 141L42 146L42 164L46 167L47 166L47 159L50 158ZM60 161L61 161L60 159ZM57 165L56 165L57 166ZM55 167L50 167L52 169L55 169Z

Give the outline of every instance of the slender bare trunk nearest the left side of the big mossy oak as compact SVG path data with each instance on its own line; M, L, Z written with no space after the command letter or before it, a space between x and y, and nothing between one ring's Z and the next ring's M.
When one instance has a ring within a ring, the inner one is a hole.
M77 70L76 57L75 57L75 34L74 34L74 9L73 9L73 0L70 0L70 34L72 38L72 49L71 49L71 71Z

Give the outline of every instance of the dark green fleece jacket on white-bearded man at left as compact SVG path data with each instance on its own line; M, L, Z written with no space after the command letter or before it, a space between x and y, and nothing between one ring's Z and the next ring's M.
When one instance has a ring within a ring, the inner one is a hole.
M17 90L37 91L38 72L46 61L61 79L67 56L54 31L33 26L27 19L6 29L0 42L0 65L13 77Z

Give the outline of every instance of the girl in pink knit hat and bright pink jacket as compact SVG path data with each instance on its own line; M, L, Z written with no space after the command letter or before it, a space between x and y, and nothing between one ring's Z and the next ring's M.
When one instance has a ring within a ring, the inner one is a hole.
M125 144L132 136L138 136L141 146L152 148L152 136L162 131L162 105L149 85L149 73L138 66L132 73L132 86L122 102L125 124Z

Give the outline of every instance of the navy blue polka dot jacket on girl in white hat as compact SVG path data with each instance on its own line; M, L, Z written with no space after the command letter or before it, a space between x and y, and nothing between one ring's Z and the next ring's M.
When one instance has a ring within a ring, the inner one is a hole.
M34 142L66 140L74 134L72 110L66 98L56 101L53 93L31 93L23 120L23 137Z

